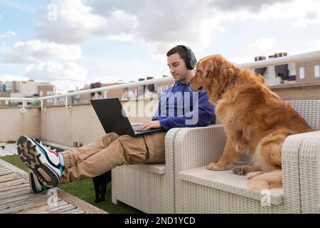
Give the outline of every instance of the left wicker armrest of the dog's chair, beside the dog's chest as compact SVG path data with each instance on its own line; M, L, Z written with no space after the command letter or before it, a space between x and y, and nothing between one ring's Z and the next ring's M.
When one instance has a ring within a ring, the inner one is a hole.
M219 160L227 140L222 125L180 129L174 145L176 172Z

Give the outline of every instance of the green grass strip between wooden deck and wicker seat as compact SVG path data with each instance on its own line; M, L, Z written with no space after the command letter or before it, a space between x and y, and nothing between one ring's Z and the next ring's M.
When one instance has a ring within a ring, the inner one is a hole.
M20 168L21 170L25 170L28 172L28 167L21 162L18 155L12 155L12 156L6 156L1 157L0 159L9 162L10 164ZM68 185L58 185L58 188L60 190L63 190L65 192L68 192L70 195L73 195L75 197L78 197L79 199L84 200L85 202L88 202L95 207L99 207L100 209L103 209L104 211L112 214L140 214L140 212L137 209L134 209L133 207L129 207L127 204L123 204L119 202L119 204L115 205L111 202L111 183L109 183L107 187L107 193L106 193L106 201L105 202L99 202L95 203L95 188L93 187L93 182L91 178L88 178L86 180L82 180L80 182L73 182Z

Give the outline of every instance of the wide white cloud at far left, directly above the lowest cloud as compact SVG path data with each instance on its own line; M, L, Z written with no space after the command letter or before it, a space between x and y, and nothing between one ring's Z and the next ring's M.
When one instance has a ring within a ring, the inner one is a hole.
M17 42L4 57L5 63L38 63L46 59L75 61L82 57L80 46L36 41Z

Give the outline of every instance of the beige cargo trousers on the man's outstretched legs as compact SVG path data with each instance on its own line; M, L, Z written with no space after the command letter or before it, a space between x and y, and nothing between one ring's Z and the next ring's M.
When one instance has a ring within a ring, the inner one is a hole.
M61 183L96 177L117 165L164 163L166 132L148 133L137 138L109 133L83 147L61 152L65 171Z

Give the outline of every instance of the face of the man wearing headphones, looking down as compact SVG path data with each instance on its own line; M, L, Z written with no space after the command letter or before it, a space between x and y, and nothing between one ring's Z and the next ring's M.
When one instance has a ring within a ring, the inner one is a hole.
M184 63L179 54L174 53L171 56L168 56L167 61L171 76L174 77L174 81L186 81L188 68L186 68L186 63Z

